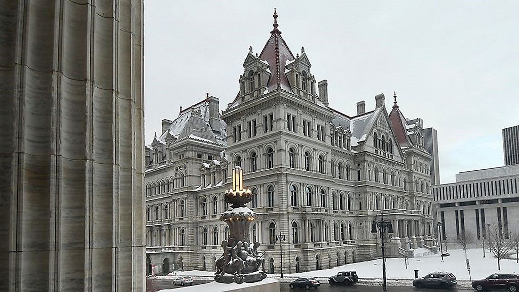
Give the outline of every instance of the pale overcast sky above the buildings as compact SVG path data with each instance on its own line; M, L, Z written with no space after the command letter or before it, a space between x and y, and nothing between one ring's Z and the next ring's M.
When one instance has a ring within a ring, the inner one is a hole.
M356 114L393 91L407 118L438 130L441 182L503 165L501 129L519 124L519 1L145 0L145 141L162 118L201 101L224 110L249 46L261 52L278 12L293 54L305 47L330 106Z

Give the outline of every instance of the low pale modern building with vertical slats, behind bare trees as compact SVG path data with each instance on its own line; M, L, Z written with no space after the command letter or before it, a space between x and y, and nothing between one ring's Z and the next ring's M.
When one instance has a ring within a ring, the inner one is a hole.
M508 237L519 232L519 165L460 172L455 183L433 185L438 203L443 240L456 243L460 234L470 232L477 242L486 236L487 224L494 224Z

